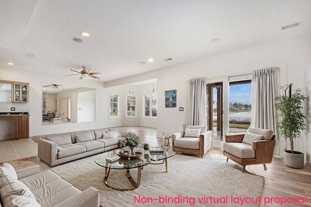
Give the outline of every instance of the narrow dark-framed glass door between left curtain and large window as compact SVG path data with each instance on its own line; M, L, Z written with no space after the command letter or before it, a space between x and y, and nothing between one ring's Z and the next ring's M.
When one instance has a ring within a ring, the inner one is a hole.
M223 82L207 84L207 127L213 140L223 140Z

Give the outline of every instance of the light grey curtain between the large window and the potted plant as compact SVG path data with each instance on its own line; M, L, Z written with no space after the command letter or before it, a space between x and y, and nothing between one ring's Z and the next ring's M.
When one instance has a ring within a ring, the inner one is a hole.
M276 127L276 69L264 68L252 72L252 127L271 129L278 142Z

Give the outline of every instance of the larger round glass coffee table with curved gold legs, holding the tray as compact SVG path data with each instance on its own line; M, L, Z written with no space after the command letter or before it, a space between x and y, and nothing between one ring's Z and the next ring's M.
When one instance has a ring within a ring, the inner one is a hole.
M138 159L121 159L119 158L118 160L115 161L107 161L107 157L115 157L118 156L116 153L104 153L101 154L100 156L96 157L95 163L98 164L99 166L102 166L105 168L105 177L104 177L104 183L106 186L118 190L118 191L131 191L136 188L138 188L140 184L140 177L141 177L141 169L143 166L149 164L150 162L150 157L146 155L142 155ZM146 158L145 158L146 157ZM137 181L135 181L131 174L130 174L130 169L138 168L137 171ZM116 169L116 170L126 170L126 175L127 178L130 180L130 182L133 184L132 188L126 188L126 189L120 189L120 188L114 188L108 184L108 176L110 173L110 169Z

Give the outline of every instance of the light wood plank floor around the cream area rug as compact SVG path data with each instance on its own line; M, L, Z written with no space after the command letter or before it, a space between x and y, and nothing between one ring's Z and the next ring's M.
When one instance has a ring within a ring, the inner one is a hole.
M160 146L163 144L163 139L156 138L156 129L149 127L113 127L112 130L121 130L123 133L131 131L138 135L140 142L150 143L151 146ZM222 149L212 147L209 155L221 156ZM206 155L207 156L207 155ZM197 156L198 159L199 156ZM44 162L41 162L37 157L24 158L19 160L28 160L36 162L40 165L41 171L50 169L51 167ZM228 164L242 171L242 166L229 160ZM263 188L262 198L295 198L307 196L306 204L283 204L282 207L311 207L311 168L293 169L285 166L283 160L274 158L271 164L267 164L268 170L264 171L262 165L247 166L246 170L255 175L264 177L265 183ZM221 173L220 169L220 173ZM224 189L225 194L225 189ZM262 200L264 202L264 200ZM263 207L263 203L261 203ZM279 207L280 204L266 204L266 207Z

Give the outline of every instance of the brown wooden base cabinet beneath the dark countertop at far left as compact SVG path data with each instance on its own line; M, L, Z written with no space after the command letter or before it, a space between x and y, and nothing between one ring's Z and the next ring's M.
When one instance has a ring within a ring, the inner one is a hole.
M0 115L0 140L29 137L29 115Z

